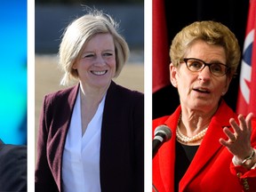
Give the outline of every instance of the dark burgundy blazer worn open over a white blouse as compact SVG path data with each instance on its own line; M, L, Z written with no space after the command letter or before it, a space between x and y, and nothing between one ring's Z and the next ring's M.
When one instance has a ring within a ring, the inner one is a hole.
M36 191L62 191L62 154L79 84L46 95L37 140ZM143 191L144 96L112 82L103 111L100 187Z

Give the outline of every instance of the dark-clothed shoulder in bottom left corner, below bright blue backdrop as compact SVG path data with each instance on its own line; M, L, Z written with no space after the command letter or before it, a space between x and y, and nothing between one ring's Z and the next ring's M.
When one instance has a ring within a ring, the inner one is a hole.
M27 191L27 147L0 140L0 191Z

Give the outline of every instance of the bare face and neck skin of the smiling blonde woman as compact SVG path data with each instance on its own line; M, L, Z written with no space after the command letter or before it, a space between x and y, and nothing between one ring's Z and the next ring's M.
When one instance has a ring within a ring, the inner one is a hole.
M73 68L77 70L81 84L82 135L84 135L116 73L113 37L110 34L92 36Z

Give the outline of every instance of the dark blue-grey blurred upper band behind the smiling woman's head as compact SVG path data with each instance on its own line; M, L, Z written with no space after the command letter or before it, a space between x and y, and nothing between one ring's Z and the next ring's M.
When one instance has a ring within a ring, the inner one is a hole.
M119 32L130 48L143 50L143 0L36 0L36 53L58 52L63 30L71 20L86 12L85 6L96 7L110 14L120 23Z

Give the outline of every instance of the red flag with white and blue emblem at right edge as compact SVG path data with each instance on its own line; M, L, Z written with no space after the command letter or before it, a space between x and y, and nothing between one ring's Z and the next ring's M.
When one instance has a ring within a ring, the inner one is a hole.
M256 116L256 0L251 0L244 39L236 112Z

